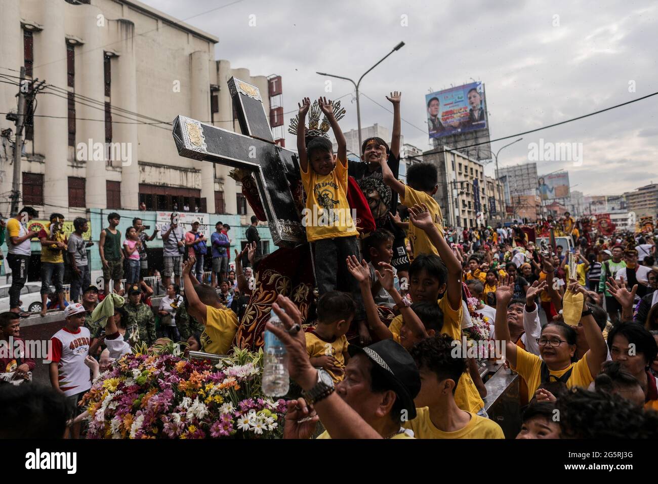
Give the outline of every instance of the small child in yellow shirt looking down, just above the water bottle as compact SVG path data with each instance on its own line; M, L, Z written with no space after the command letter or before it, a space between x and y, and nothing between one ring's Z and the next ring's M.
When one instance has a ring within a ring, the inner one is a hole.
M334 383L342 381L349 360L345 333L356 309L349 294L327 292L318 301L318 325L305 334L311 365L326 369Z

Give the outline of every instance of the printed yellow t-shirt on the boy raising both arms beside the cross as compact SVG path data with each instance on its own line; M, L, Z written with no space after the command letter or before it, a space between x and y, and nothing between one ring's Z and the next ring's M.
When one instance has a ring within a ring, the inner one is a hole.
M302 222L307 240L359 236L347 203L347 161L343 165L340 159L336 159L336 167L329 175L315 173L310 161L308 169L299 169L306 191Z

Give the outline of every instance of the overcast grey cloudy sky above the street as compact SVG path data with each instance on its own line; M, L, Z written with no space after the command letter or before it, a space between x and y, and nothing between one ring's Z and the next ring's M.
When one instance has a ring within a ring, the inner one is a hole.
M402 134L421 149L430 148L425 94L451 84L485 83L492 139L658 91L658 3L651 0L141 1L218 36L216 59L252 75L280 74L285 111L324 93L316 71L356 80L404 41L361 92L388 108L386 94L401 90ZM343 128L356 128L353 86L334 80L332 88L332 97L346 95ZM390 128L392 115L361 97L362 126L374 122ZM528 144L543 138L582 144L580 166L539 161L538 171L567 169L572 189L586 195L658 182L658 95L523 138L501 152L501 167L527 162ZM510 141L493 143L493 151ZM290 135L286 144L294 146ZM493 175L493 163L486 173Z

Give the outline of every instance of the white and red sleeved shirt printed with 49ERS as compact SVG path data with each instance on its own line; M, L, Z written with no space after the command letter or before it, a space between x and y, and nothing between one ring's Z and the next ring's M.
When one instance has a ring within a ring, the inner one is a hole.
M51 338L53 350L50 360L57 363L59 388L66 396L86 392L91 388L89 367L84 364L89 354L89 339L89 329L86 327L78 328L76 333L62 328Z

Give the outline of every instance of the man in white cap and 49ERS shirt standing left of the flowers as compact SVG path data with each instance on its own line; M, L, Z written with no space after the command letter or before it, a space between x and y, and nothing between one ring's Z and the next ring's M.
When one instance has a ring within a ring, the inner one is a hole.
M84 363L89 354L89 330L83 327L86 310L76 302L64 309L64 327L51 338L49 353L50 383L53 389L66 396L79 413L78 402L91 388L91 374ZM74 427L73 437L78 437L80 426ZM76 435L77 434L77 435Z

